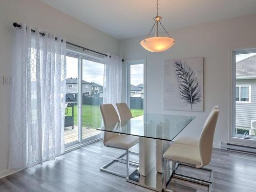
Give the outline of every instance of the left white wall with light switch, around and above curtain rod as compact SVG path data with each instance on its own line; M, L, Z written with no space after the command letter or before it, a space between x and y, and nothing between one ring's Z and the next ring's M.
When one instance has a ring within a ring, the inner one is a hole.
M0 3L0 172L7 169L11 86L3 75L12 75L13 22L24 22L53 32L66 40L103 53L119 54L119 41L79 20L35 0L1 0ZM0 174L1 175L1 174Z

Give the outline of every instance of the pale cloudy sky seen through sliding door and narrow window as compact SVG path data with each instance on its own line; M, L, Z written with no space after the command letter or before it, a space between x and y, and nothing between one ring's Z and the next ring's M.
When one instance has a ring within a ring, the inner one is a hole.
M104 65L89 60L82 60L82 79L96 82L103 86ZM78 58L67 56L67 78L78 78ZM131 65L131 84L143 83L143 64Z

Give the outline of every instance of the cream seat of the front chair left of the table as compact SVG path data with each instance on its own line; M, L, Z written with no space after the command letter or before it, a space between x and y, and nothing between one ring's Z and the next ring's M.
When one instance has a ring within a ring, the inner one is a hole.
M129 149L139 142L139 137L131 135L117 135L110 138L104 144L107 146L114 146L118 148Z

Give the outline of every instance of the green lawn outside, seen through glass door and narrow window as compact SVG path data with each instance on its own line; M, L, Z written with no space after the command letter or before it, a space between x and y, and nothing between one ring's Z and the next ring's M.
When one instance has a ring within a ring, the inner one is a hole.
M67 113L68 112L68 113ZM133 117L143 115L142 109L131 109ZM66 109L66 116L72 115L72 108ZM88 123L91 128L101 126L101 113L99 106L96 105L82 105L82 126L87 127ZM74 106L74 124L77 125L77 105Z

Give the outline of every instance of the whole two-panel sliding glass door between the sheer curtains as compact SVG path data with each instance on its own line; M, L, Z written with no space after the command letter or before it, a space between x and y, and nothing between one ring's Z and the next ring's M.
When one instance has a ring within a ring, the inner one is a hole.
M65 146L99 139L103 98L102 59L72 52L67 54Z

